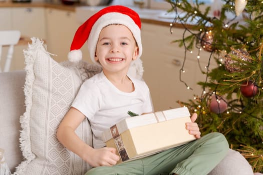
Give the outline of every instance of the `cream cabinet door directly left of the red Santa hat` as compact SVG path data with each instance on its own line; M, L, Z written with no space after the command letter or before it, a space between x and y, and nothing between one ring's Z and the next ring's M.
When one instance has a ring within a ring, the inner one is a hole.
M80 25L72 11L46 9L48 51L56 54L53 58L66 61L74 34Z

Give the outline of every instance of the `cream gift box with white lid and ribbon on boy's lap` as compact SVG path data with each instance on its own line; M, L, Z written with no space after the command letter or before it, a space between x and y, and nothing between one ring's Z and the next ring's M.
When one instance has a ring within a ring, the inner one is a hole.
M127 117L102 134L106 146L115 147L117 163L141 158L192 141L185 123L191 122L187 107Z

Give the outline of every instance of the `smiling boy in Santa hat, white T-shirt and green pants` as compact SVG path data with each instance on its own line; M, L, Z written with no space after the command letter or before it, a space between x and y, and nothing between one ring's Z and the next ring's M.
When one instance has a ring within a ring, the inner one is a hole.
M105 147L101 139L104 129L129 117L128 110L138 114L153 111L148 86L127 74L142 54L140 27L139 15L120 5L103 8L79 27L69 59L81 59L79 49L87 40L91 59L103 70L82 84L58 128L58 139L94 166L86 174L207 174L225 156L228 143L220 133L200 138L194 122L197 114L186 123L186 129L200 139L142 159L116 165L116 150ZM93 147L74 132L85 117L91 123Z

